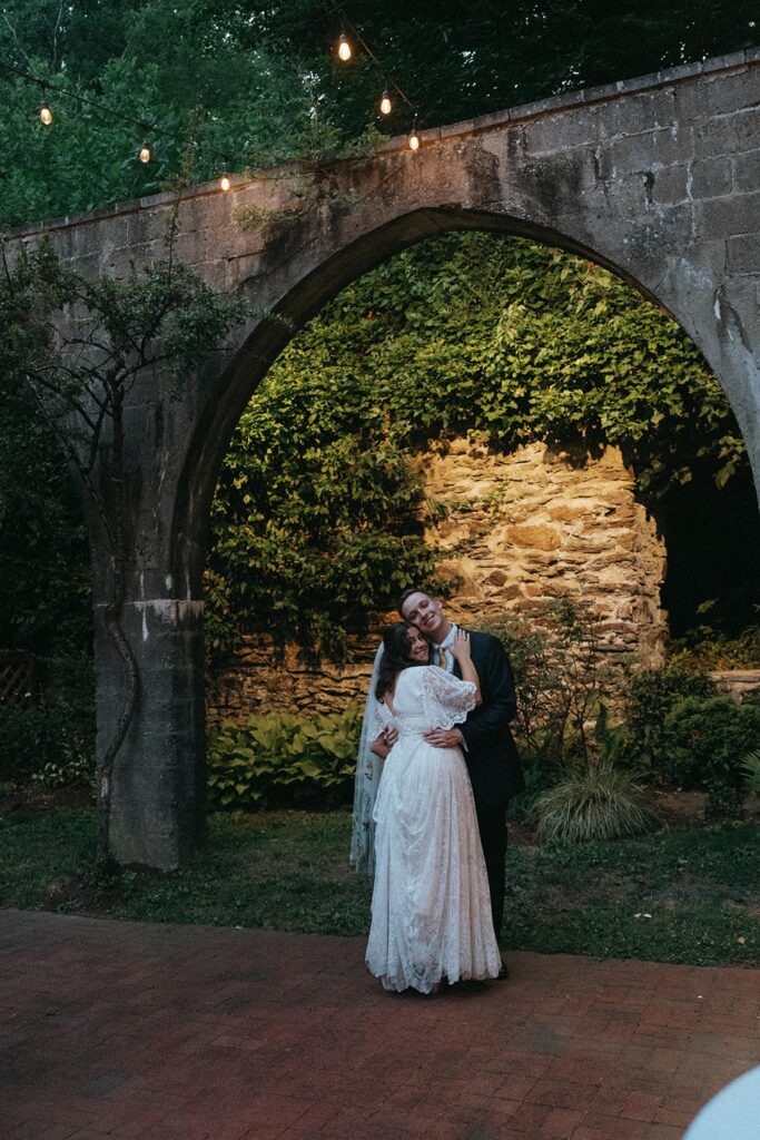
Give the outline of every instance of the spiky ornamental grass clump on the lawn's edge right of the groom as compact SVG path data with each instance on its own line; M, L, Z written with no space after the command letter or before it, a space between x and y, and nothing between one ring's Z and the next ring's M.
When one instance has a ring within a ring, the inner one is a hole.
M657 819L641 785L605 760L571 772L537 798L533 812L544 844L639 836Z

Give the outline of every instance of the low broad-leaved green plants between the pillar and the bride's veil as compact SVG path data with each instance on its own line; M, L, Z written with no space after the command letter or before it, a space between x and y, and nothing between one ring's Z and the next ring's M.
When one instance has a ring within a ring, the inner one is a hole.
M269 712L226 722L209 739L209 798L232 808L350 803L361 714Z

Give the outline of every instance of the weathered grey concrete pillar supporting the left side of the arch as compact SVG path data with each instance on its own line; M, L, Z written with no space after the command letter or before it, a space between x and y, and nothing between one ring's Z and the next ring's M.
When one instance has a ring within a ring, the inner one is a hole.
M117 739L130 700L123 656L108 625L119 580L114 575L115 519L123 522L123 603L119 626L136 674L133 711L111 768L107 845L121 864L172 870L202 845L205 819L203 650L204 548L172 551L195 375L170 399L164 377L136 388L125 408L123 480L111 492L108 450L98 466L109 504L109 530L89 508L95 570L96 767L103 800L104 759ZM172 377L166 377L171 383ZM204 518L207 516L207 506ZM103 803L100 840L104 841Z

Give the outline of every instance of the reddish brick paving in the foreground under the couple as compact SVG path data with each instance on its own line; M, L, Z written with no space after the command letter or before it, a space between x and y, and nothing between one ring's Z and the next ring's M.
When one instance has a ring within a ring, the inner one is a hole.
M3 1140L679 1140L760 972L512 954L384 994L363 942L0 912Z

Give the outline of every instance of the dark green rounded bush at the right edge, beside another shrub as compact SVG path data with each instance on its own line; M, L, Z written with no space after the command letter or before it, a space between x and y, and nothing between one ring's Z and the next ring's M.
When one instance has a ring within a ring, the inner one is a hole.
M742 764L760 740L760 707L726 697L687 697L663 724L660 763L683 788L704 788L713 815L734 814L743 796Z

